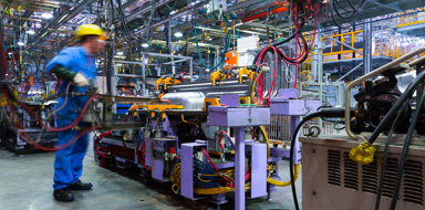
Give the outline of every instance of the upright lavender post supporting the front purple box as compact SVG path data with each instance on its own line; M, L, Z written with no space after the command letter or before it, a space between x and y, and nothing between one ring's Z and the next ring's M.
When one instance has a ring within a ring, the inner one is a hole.
M235 127L235 209L245 209L245 127Z

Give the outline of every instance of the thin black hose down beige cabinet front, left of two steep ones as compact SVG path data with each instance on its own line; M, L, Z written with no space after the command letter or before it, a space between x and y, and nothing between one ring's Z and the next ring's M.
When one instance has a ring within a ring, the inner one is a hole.
M393 125L391 126L391 129L390 129L390 133L388 133L388 137L386 138L384 156L382 158L382 169L381 169L380 183L377 186L377 192L376 192L375 210L379 210L380 209L380 204L381 204L380 203L381 202L381 193L382 193L382 186L384 185L386 158L388 156L390 141L391 141L391 138L393 137L393 133L394 133L395 127L397 125L400 125L400 123L404 118L403 114L404 114L404 111L405 111L405 108L407 107L408 104L410 104L408 101L404 102L403 108L398 111L398 115L395 118Z

